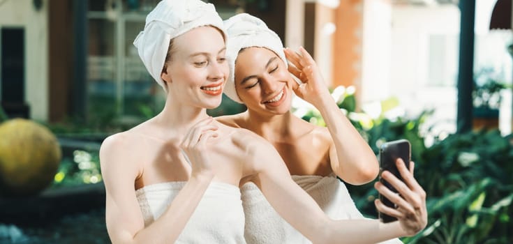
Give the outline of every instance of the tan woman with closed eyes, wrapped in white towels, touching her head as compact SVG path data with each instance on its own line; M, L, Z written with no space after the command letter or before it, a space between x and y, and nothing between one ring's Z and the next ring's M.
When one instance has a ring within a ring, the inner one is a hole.
M257 17L236 15L225 21L225 28L227 57L232 66L225 93L244 103L247 110L216 119L251 130L273 144L292 178L330 218L363 219L336 176L355 185L372 181L379 171L376 155L336 105L315 61L303 48L299 53L290 49L283 52L279 37ZM286 63L285 56L292 65ZM302 84L295 82L290 73ZM292 115L294 93L320 111L327 128ZM412 185L408 185L408 195L403 196L423 202L424 190L412 175L409 178ZM376 188L382 189L382 184L376 183ZM248 243L309 243L278 216L255 185L248 183L241 190ZM377 200L376 206L380 209L382 203ZM403 210L394 211L404 218ZM387 243L401 242L395 239Z

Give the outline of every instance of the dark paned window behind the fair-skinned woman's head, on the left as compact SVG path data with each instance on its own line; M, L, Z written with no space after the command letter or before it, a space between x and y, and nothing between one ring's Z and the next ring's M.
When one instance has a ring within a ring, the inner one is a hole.
M137 118L154 109L156 91L133 40L157 0L89 1L87 96L93 119Z

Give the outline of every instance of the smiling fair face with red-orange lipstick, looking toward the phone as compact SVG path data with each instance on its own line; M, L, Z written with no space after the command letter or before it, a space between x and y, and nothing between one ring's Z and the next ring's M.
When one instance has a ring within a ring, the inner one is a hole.
M184 105L218 107L228 77L221 32L198 27L174 38L171 45L161 74L170 96Z

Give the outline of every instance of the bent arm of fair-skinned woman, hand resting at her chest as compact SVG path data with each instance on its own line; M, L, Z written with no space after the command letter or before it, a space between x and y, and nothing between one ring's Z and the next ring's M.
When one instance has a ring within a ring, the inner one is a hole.
M201 142L211 136L204 134L200 139L201 134L202 131L191 133L186 145L182 144L191 161L198 160L193 150L200 150ZM193 174L184 188L163 215L145 228L134 190L135 178L141 169L137 166L137 157L131 153L138 150L131 150L129 143L119 135L114 135L105 139L100 150L106 192L105 221L110 239L112 243L173 243L191 218L214 176L206 170L195 170L193 165ZM198 167L204 166L196 165Z

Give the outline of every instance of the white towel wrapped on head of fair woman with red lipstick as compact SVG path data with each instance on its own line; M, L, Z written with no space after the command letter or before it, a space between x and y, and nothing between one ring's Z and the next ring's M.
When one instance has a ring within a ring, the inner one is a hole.
M211 3L200 0L163 0L146 17L144 30L133 45L151 77L167 91L161 78L170 40L200 26L215 26L226 40L223 20Z

